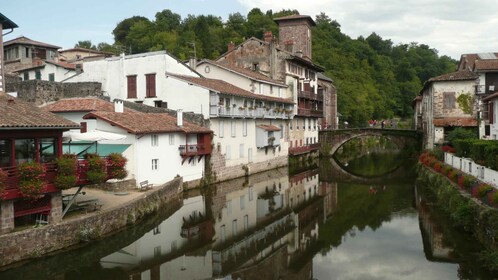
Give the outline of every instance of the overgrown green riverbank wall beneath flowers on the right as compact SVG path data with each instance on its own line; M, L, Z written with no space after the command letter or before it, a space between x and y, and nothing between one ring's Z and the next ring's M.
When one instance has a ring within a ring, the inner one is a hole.
M421 164L417 183L433 194L436 205L457 229L471 232L489 251L498 250L498 209L461 190L446 176Z

